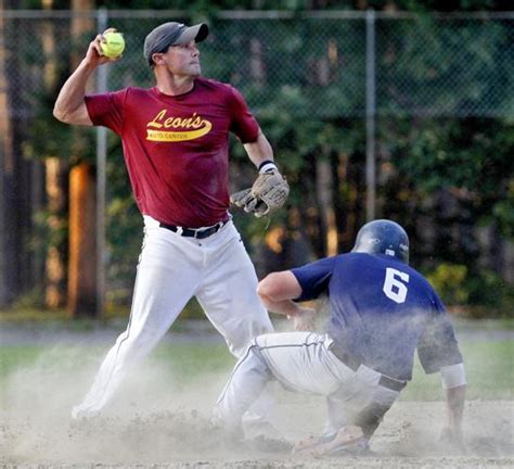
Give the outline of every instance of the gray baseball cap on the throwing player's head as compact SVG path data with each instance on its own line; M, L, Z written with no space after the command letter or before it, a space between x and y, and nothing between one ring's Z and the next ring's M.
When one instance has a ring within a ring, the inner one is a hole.
M185 26L183 23L169 22L152 29L144 39L143 54L150 65L153 65L152 54L166 52L170 46L180 46L203 41L209 34L205 23Z

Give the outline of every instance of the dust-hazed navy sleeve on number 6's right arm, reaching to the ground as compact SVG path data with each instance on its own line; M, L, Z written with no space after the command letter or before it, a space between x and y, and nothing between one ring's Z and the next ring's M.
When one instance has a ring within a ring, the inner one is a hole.
M417 341L417 356L426 373L463 362L446 308L435 293L433 307L428 325Z

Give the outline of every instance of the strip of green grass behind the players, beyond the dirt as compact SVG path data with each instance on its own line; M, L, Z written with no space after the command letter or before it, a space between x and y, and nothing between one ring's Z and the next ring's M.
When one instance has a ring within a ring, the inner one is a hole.
M514 342L473 341L461 342L461 351L466 365L468 400L513 400L514 390ZM105 345L87 348L64 345L10 345L0 346L0 391L10 375L23 368L44 367L72 376L82 366L83 356L100 359L106 352ZM44 360L40 357L44 355ZM233 357L224 344L172 344L163 343L149 358L170 377L181 377L187 385L203 373L228 375L233 366ZM170 382L176 381L170 378ZM1 396L1 393L0 393ZM402 401L433 401L442 398L439 373L425 375L417 358L413 380L402 392Z

